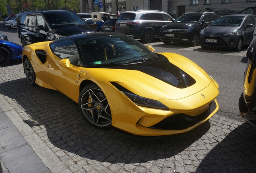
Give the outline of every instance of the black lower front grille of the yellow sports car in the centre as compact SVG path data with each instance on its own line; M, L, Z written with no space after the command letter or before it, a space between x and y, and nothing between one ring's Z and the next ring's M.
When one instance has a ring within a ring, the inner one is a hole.
M149 127L151 129L160 129L160 130L183 130L188 129L199 123L200 121L206 119L215 109L217 105L215 101L209 104L209 109L197 116L190 116L186 114L176 114L171 115L159 123Z

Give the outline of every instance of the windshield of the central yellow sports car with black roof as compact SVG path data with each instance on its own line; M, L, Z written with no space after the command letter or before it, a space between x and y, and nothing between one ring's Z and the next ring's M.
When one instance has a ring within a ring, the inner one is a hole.
M79 41L87 67L140 63L157 54L128 36L103 36Z

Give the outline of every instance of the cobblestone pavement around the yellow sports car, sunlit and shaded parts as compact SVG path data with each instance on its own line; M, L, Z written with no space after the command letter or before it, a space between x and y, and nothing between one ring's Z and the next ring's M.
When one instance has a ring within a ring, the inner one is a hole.
M31 87L20 62L0 74L0 93L66 165L61 173L256 172L256 129L247 123L215 114L187 133L139 141L96 129L58 91Z

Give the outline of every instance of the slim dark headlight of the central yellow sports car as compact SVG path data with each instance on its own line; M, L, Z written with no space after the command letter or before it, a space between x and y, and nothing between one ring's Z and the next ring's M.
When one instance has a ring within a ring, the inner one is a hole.
M169 109L159 101L147 99L145 97L141 97L133 93L128 93L126 91L122 91L122 93L124 93L124 95L126 95L129 99L131 99L131 101L133 101L138 106L149 107L154 109L163 109L163 110Z

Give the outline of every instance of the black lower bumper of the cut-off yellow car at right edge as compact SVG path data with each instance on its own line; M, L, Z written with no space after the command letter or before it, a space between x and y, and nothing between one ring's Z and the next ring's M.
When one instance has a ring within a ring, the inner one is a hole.
M239 112L240 112L241 118L244 121L246 121L249 124L251 124L254 127L256 127L256 113L250 112L248 110L248 107L246 106L246 102L244 101L243 93L242 93L242 95L239 98L238 107L239 107Z

